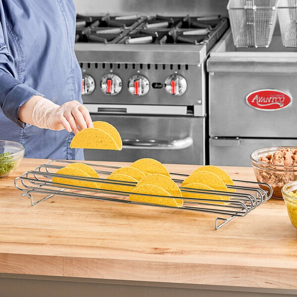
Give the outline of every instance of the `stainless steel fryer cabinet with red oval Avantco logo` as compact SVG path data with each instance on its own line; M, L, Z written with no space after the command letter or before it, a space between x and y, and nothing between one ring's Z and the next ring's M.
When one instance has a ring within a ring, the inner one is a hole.
M296 146L297 48L235 48L227 31L207 60L210 164L251 166L256 149Z

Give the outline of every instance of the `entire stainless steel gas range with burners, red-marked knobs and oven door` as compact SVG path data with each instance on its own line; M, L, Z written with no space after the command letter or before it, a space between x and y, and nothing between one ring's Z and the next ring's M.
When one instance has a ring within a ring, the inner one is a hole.
M210 49L228 28L220 16L77 16L75 52L93 121L107 121L122 151L89 160L205 164Z

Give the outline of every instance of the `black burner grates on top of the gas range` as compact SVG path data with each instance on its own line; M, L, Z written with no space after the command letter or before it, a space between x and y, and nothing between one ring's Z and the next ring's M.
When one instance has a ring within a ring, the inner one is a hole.
M220 16L77 16L76 42L104 44L193 44L211 47Z

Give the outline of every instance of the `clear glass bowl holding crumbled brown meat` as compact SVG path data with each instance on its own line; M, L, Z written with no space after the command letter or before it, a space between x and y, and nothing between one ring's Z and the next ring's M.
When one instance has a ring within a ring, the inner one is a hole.
M253 171L257 181L259 183L269 184L272 187L272 197L274 198L283 198L282 188L286 184L297 180L297 165L270 164L259 161L260 157L266 157L267 155L274 154L280 149L284 149L286 151L296 150L297 152L297 147L274 147L261 148L255 150L250 155L251 165L253 167ZM269 191L268 188L264 185L260 185L260 188Z

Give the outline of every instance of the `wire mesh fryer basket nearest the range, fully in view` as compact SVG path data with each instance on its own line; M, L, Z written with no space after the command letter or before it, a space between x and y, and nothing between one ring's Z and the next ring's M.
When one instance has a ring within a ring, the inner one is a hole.
M235 47L268 48L279 0L229 0L227 10Z

